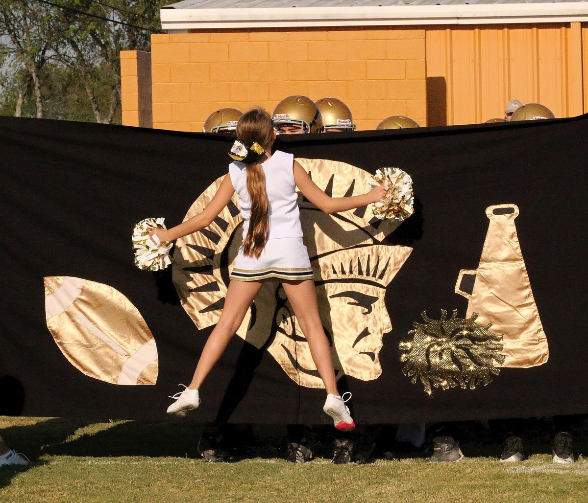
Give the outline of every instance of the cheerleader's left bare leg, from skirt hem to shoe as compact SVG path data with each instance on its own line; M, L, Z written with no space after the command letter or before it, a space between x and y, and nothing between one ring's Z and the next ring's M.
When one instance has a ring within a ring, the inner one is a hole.
M211 335L208 336L204 349L202 349L202 355L198 360L192 382L188 386L189 389L197 390L200 388L205 377L215 366L215 363L218 362L229 340L241 326L247 309L249 309L261 286L262 283L259 281L231 281L229 283L225 306L222 313L220 313L218 323L216 323Z

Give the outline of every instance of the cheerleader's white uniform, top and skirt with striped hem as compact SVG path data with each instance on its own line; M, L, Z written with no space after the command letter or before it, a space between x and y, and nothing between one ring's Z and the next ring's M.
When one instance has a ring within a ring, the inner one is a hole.
M308 250L302 242L293 173L294 156L276 150L262 163L269 199L269 239L259 258L243 255L239 249L230 279L259 281L266 278L313 279ZM235 161L229 165L230 181L239 194L243 216L243 241L249 228L251 199L247 190L246 165Z

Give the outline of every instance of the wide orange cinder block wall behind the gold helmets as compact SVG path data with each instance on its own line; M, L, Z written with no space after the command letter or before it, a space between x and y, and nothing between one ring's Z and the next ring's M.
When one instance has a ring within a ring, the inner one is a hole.
M291 94L348 104L358 129L391 115L426 124L425 31L403 27L152 35L153 127L202 131L214 110Z

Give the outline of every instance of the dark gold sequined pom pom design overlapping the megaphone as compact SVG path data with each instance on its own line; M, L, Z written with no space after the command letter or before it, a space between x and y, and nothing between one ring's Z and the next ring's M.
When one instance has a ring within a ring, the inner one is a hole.
M490 325L478 325L477 313L470 318L457 318L457 309L447 319L447 311L441 310L441 318L431 319L427 312L421 313L425 323L414 322L412 342L401 342L400 361L406 362L403 374L411 382L417 380L425 386L425 393L432 394L432 387L443 390L459 386L476 389L478 384L486 386L492 382L492 374L498 375L495 367L505 361L502 350L502 335L490 332Z

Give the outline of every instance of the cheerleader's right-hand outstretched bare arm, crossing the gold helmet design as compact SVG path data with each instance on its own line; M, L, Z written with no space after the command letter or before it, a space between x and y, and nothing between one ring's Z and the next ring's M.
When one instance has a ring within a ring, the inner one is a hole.
M386 195L384 187L374 187L369 192L360 195L352 195L350 197L330 197L325 194L309 177L305 169L298 161L294 161L294 181L296 187L304 194L317 208L325 213L338 213L340 211L353 210L365 206L371 202L376 202Z

